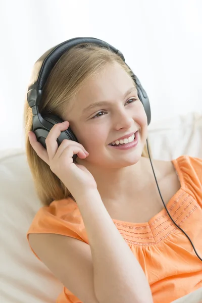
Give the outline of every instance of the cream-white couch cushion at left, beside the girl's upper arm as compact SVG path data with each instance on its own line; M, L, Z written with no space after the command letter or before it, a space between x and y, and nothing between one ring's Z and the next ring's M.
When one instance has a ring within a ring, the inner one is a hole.
M0 157L0 301L54 303L62 283L30 250L26 232L41 207L23 150Z

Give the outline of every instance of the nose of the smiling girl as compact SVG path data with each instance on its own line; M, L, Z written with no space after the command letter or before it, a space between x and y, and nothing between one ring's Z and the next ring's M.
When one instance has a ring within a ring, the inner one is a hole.
M128 129L131 128L131 125L134 123L131 116L131 112L127 111L125 108L117 109L114 114L114 128L119 129Z

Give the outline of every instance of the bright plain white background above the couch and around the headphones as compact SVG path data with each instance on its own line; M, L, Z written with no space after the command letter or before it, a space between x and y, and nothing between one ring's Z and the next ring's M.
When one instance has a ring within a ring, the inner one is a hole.
M73 37L120 49L149 96L152 123L201 113L201 16L200 0L0 0L0 149L24 148L32 66Z

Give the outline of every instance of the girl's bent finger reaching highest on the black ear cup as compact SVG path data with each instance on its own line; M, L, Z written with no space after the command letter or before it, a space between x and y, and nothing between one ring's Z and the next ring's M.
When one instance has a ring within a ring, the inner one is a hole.
M52 129L49 131L47 138L45 139L47 154L49 160L51 161L58 150L57 138L60 136L61 131L67 130L69 127L69 122L64 121L62 123L55 124Z

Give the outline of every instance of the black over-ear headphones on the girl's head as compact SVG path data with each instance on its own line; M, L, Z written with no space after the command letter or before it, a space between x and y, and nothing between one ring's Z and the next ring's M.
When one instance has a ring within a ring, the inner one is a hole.
M32 70L32 77L30 80L30 84L28 86L28 92L27 92L27 101L29 104L29 107L32 109L33 114L33 127L32 131L35 133L37 141L39 141L43 147L46 148L45 139L49 133L49 131L52 129L52 127L57 124L63 122L61 118L59 118L56 115L52 114L45 114L43 117L38 111L38 106L42 99L42 92L43 87L46 83L46 80L58 62L58 60L61 58L61 56L68 52L70 48L82 44L82 43L94 43L97 44L100 47L107 47L110 48L111 51L113 51L115 54L119 55L122 60L125 62L125 58L122 55L122 53L116 49L114 46L108 44L107 42L103 40L99 40L96 38L73 38L70 40L67 40L65 42L62 42L51 49L48 49L34 64L33 70ZM125 63L126 64L126 63ZM126 64L127 65L127 64ZM128 65L127 65L128 66ZM128 66L129 67L129 66ZM130 69L131 70L131 69ZM150 105L149 105L149 99L148 96L141 86L138 78L132 73L132 78L134 82L136 83L137 91L138 91L138 97L143 104L146 116L147 116L147 124L149 125L151 120L151 112L150 112ZM67 130L62 131L60 136L57 139L58 146L62 143L64 139L73 140L78 142L76 136L72 132L71 128L69 127ZM73 161L76 160L77 155L73 156Z

